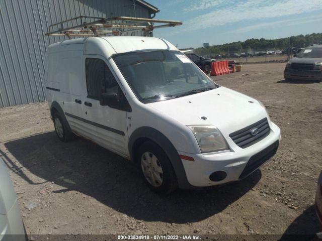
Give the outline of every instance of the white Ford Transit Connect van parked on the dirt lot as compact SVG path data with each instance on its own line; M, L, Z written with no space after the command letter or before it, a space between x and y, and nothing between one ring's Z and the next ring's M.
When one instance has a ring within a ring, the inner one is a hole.
M81 136L132 160L158 193L243 179L279 145L260 101L214 83L159 38L52 44L46 89L61 141Z

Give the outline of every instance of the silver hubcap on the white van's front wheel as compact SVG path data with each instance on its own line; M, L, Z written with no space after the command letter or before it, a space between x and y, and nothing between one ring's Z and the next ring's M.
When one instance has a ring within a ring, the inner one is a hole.
M153 187L162 185L163 170L156 156L150 152L144 152L141 157L141 168L148 183Z

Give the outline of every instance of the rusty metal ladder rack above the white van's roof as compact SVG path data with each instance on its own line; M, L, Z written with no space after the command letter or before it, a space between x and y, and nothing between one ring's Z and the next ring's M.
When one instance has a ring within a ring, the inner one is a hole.
M84 20L90 19L90 22ZM78 23L77 23L78 22ZM80 22L80 23L79 23ZM68 27L68 25L72 25ZM154 25L158 24L158 25ZM63 27L67 25L67 27ZM99 37L99 36L118 36L123 33L133 31L145 31L150 35L154 29L175 27L182 25L181 21L146 19L134 17L110 17L100 18L91 16L78 16L53 25L48 28L47 36L67 36L71 37Z

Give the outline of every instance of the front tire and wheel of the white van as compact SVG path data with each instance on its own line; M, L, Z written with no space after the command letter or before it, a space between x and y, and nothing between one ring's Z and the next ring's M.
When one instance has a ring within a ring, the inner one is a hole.
M169 194L177 189L177 179L169 157L154 142L144 142L137 153L144 182L155 193Z

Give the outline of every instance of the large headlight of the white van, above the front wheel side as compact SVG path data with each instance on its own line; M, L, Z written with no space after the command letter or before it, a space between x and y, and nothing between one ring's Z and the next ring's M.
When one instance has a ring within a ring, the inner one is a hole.
M228 150L228 145L214 126L188 126L195 135L202 153Z

